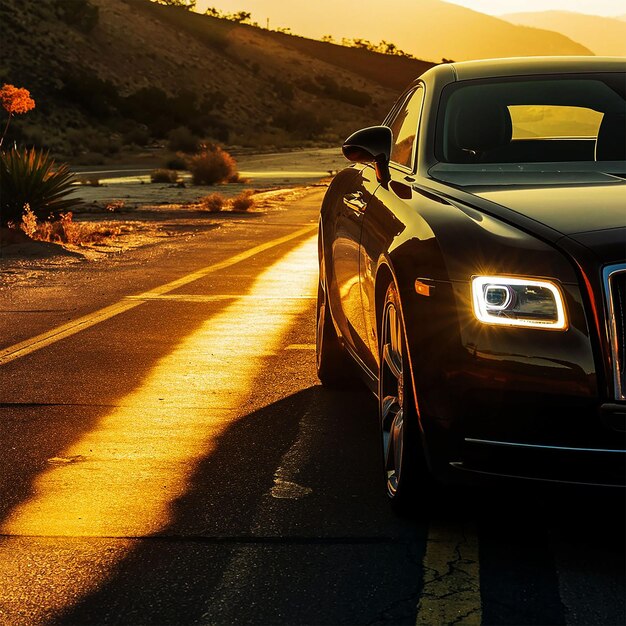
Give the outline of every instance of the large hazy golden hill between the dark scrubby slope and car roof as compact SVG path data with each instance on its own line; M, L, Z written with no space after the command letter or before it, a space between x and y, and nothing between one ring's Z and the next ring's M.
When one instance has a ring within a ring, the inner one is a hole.
M240 0L200 0L198 8L217 5L234 11ZM513 25L483 13L441 0L316 0L316 2L243 3L252 17L265 24L291 28L307 37L364 38L393 42L420 59L463 61L507 56L591 54L560 33Z

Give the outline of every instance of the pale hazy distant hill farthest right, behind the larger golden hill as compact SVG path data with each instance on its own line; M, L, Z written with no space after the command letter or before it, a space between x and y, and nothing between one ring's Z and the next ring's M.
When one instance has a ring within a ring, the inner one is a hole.
M595 54L626 56L626 22L623 19L570 11L511 13L503 17L513 24L547 28L567 35Z

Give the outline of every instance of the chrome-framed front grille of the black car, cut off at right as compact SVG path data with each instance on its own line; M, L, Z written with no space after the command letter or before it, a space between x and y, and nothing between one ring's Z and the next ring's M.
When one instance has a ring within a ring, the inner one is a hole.
M615 398L626 400L626 263L604 269Z

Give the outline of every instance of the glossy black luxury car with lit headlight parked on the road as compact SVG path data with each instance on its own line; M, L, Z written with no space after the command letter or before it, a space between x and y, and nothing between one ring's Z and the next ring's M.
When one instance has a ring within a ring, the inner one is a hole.
M396 504L433 476L623 487L625 90L623 58L447 63L346 140L317 370L378 397Z

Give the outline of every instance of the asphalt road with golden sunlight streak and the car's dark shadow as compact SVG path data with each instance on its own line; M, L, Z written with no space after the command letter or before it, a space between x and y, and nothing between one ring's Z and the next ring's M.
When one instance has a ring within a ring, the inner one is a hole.
M315 377L320 197L0 292L2 624L624 624L621 493L391 512Z

